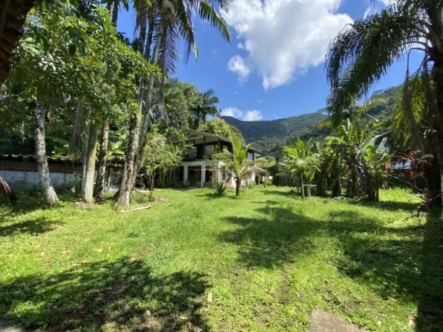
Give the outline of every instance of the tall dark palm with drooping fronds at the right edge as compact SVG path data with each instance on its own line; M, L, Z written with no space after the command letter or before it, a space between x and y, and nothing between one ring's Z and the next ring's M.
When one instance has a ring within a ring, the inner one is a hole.
M409 56L423 52L418 69L424 81L423 107L434 118L443 188L443 2L441 0L397 0L394 4L365 19L347 25L331 41L326 55L326 69L332 88L328 108L340 114L356 98L367 93L388 68L407 55L404 84L404 112L414 147L423 151L416 118L411 106L413 83L409 78ZM432 64L428 68L428 63Z

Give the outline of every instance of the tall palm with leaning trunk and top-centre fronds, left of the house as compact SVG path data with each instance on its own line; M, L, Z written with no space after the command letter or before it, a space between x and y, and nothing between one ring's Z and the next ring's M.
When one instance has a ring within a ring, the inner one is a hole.
M229 28L222 17L217 13L215 6L219 5L224 9L228 9L230 5L229 0L160 0L156 3L158 8L157 15L153 15L153 27L156 28L155 45L150 57L150 62L153 65L159 65L161 68L161 80L157 88L157 115L167 121L167 114L165 112L164 88L167 77L174 69L174 63L178 59L177 43L181 38L184 40L185 60L189 59L191 51L194 51L196 59L198 59L198 49L195 42L194 28L192 25L192 14L197 12L200 18L208 21L211 25L220 31L222 37L230 41ZM137 20L143 21L142 18ZM148 19L147 19L148 20ZM146 20L146 21L147 21ZM149 36L148 36L149 40ZM150 45L144 48L146 58L147 52L150 54ZM149 124L152 120L152 97L154 91L155 77L149 77L147 80L146 91L143 90L144 81L140 80L138 106L142 113L142 101L145 102L143 111L143 123L139 124L138 115L133 116L131 121L129 149L127 152L126 163L127 170L130 176L122 183L119 191L117 205L129 204L130 193L135 183L135 178L140 167L142 159L142 151L146 144L146 134L149 129ZM144 97L144 98L143 98ZM125 177L124 177L125 178Z

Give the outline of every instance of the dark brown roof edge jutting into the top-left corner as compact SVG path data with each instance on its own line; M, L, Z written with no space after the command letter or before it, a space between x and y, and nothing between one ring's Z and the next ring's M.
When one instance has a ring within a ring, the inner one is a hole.
M0 85L11 70L26 15L34 0L0 0Z

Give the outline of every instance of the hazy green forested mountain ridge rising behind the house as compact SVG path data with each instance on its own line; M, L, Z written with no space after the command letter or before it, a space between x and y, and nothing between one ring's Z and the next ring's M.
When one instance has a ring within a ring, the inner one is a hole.
M374 97L384 97L387 105L378 106L367 113L383 120L391 112L397 98L400 86L390 87L374 92ZM248 143L253 143L262 155L277 155L282 147L292 145L297 137L309 139L319 138L327 133L327 129L315 129L315 126L324 118L320 112L307 113L298 116L279 118L272 121L241 121L231 116L221 116L228 124L237 127Z

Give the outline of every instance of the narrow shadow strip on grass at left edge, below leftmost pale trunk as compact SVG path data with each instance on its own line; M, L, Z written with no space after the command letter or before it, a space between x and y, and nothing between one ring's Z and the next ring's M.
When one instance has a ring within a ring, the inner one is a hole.
M6 226L0 224L0 236L11 236L23 233L38 235L51 231L61 224L61 221L49 220L47 218L36 218L21 221L19 223L8 223Z

